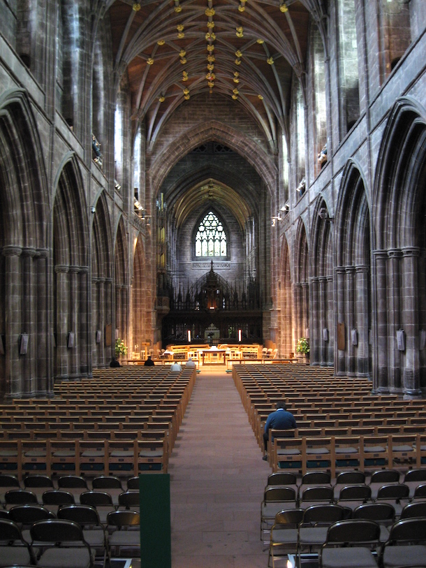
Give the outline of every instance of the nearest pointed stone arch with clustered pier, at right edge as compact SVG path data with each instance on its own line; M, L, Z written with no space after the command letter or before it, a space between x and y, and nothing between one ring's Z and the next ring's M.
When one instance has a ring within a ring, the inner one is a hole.
M383 135L374 191L376 373L379 391L426 389L426 112L395 103Z

